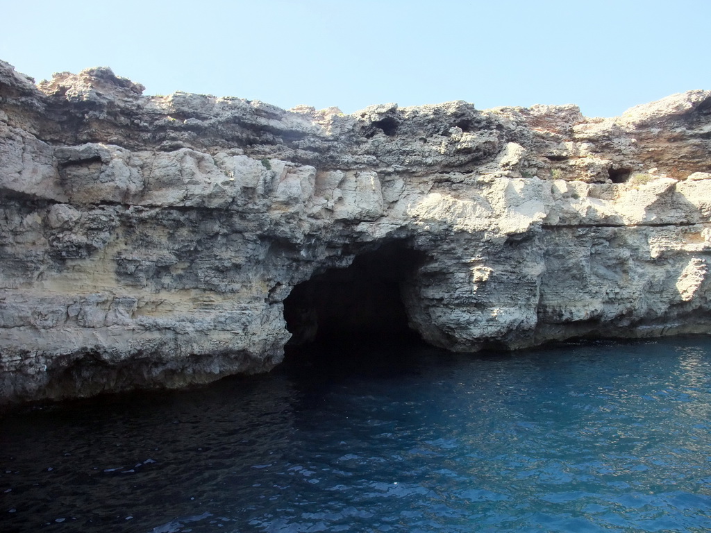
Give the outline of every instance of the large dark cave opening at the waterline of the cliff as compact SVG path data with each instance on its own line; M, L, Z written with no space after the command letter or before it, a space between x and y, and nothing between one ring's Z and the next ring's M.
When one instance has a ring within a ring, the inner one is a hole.
M410 329L402 289L424 253L402 242L363 252L345 269L328 269L298 284L284 300L292 333L287 348L372 345L419 340Z

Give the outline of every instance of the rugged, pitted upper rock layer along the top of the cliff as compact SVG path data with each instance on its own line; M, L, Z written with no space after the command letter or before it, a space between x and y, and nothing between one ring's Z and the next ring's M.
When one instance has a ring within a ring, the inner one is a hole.
M110 68L60 72L35 85L0 61L0 119L53 145L213 155L229 150L322 169L432 174L483 168L510 177L587 182L616 181L633 171L673 178L711 171L704 157L711 135L709 90L671 95L610 118L584 117L570 104L479 110L464 101L390 103L343 114L336 107L284 110L237 97L143 92L143 85ZM656 146L661 132L678 142L676 151ZM515 164L497 162L509 157L505 149L518 154Z

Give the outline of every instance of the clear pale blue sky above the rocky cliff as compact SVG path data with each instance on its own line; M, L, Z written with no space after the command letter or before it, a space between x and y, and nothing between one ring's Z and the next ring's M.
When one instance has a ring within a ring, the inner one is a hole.
M711 89L711 0L0 0L0 13L0 58L20 72L109 66L146 94L609 117Z

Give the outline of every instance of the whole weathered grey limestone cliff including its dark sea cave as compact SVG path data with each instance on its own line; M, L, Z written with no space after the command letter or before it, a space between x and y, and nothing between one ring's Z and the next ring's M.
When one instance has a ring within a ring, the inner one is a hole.
M711 331L711 91L611 119L142 91L0 62L1 402L264 372L319 335Z

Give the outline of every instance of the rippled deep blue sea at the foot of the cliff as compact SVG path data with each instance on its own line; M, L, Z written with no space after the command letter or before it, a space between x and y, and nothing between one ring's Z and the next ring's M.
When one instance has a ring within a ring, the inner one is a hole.
M347 355L5 416L0 531L711 530L710 338Z

